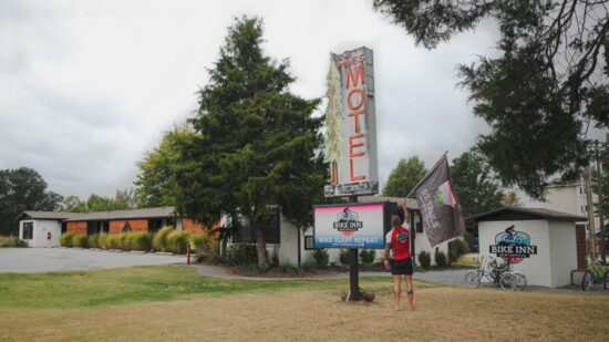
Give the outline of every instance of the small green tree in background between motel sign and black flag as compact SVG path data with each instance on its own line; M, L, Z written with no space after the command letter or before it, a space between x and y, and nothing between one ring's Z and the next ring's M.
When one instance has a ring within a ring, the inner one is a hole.
M425 164L419 159L419 156L400 159L398 166L391 170L383 187L384 196L406 197L419 182L425 176Z

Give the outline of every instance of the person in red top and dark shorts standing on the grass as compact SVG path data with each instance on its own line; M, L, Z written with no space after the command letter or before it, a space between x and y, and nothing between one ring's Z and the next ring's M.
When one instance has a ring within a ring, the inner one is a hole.
M412 288L412 256L410 251L410 225L407 224L407 211L404 209L404 222L399 216L391 218L391 229L385 236L385 250L383 261L385 268L393 274L393 310L400 310L400 297L402 294L402 274L406 282L406 294L409 299L409 309L414 309L414 290ZM405 227L404 227L405 226ZM393 249L393 259L390 260L390 249Z

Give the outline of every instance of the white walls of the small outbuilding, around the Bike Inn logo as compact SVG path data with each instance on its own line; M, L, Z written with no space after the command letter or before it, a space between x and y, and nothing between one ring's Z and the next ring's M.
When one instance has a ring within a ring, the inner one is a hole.
M525 273L531 286L555 288L570 284L570 272L577 269L575 225L547 220L481 221L481 257L496 258L496 255L491 253L489 246L495 245L496 235L512 225L515 230L528 234L530 245L537 246L537 255L515 263L514 270Z

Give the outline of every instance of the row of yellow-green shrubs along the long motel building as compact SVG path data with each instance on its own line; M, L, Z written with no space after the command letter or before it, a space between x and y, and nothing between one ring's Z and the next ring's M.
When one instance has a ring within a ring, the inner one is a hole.
M156 234L127 231L121 234L82 234L65 232L60 237L63 247L102 248L141 251L165 251L178 255L186 253L187 243L192 252L210 253L217 249L217 241L206 234L190 234L165 227Z

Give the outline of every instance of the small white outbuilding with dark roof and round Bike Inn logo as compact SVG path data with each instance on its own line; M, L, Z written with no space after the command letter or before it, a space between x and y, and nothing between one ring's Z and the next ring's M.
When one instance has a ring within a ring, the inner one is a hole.
M585 217L541 209L504 207L468 218L478 222L479 255L510 261L528 284L571 284L586 267Z

